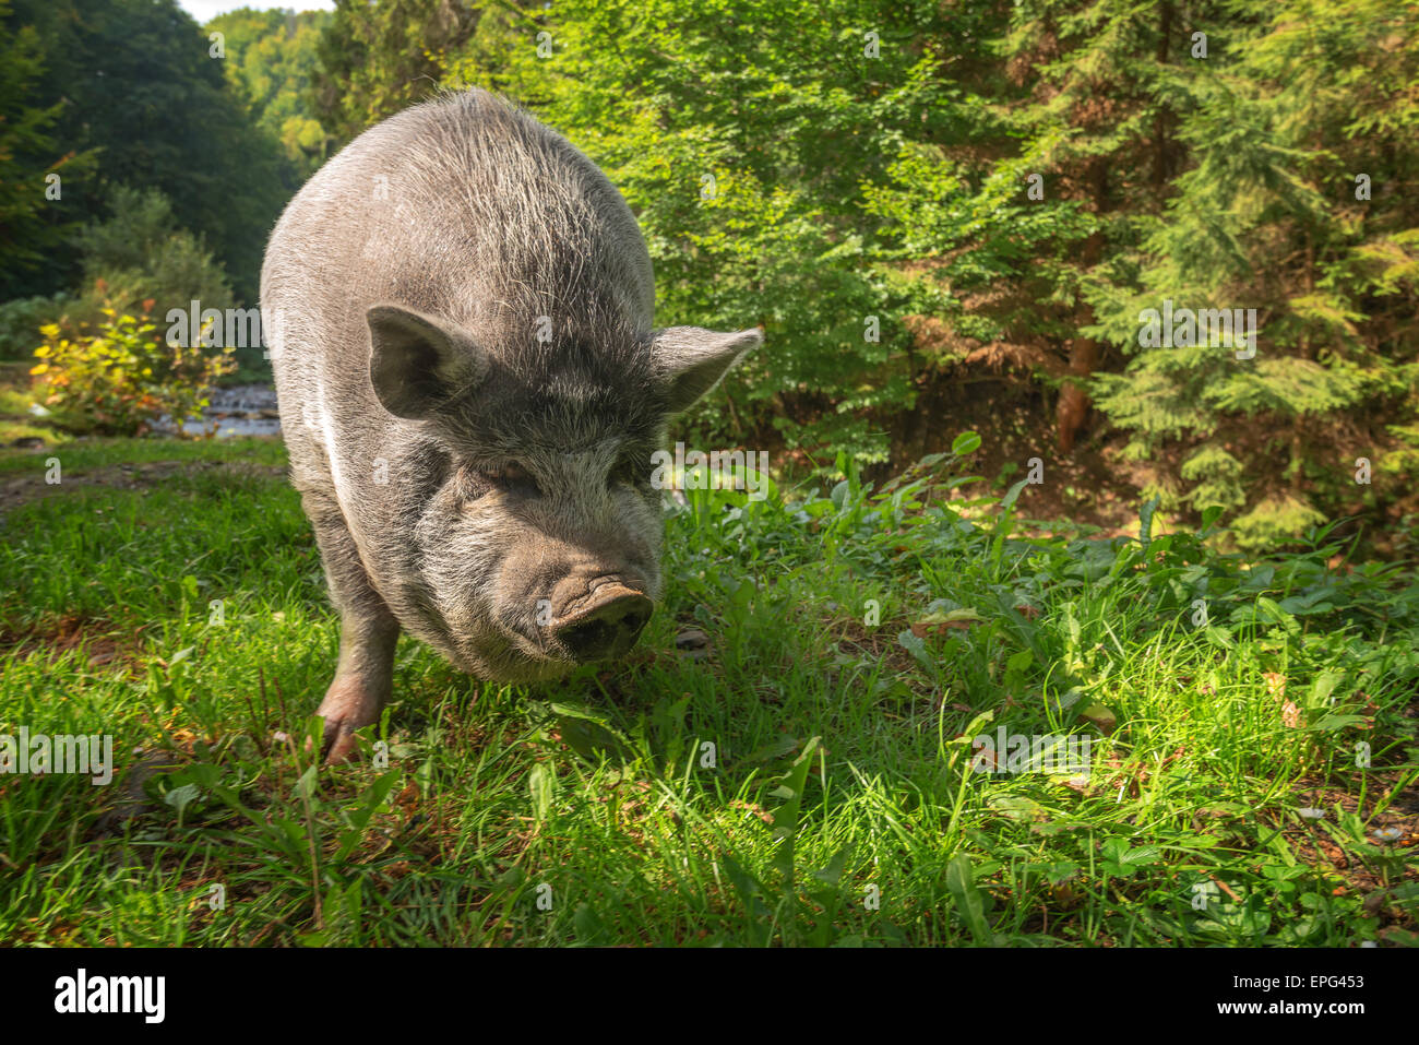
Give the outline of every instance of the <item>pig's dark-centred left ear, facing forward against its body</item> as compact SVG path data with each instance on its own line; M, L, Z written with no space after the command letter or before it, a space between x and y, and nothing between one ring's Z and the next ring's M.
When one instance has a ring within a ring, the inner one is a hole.
M482 381L488 356L454 324L399 305L373 305L369 381L396 417L423 420Z

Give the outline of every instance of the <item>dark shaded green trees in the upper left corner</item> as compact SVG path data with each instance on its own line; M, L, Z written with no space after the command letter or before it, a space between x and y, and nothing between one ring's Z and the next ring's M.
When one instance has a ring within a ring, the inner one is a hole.
M284 177L278 142L253 126L227 85L207 34L176 0L13 4L43 50L31 102L60 106L55 142L98 153L92 176L68 179L47 220L92 224L112 213L115 186L158 189L177 223L221 258L237 294L254 301L267 233L295 182ZM38 190L43 176L27 185ZM68 290L79 267L77 244L57 248L47 281L26 292Z

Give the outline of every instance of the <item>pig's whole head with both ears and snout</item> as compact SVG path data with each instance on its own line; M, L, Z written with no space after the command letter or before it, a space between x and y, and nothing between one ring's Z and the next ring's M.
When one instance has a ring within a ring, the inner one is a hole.
M629 650L661 588L651 454L667 417L759 332L596 321L475 337L397 305L366 318L379 402L438 447L412 517L417 589L443 649L507 682Z

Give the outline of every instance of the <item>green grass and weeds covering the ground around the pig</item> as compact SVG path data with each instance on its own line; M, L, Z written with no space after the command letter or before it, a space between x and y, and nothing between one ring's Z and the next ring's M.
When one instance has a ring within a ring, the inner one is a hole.
M387 765L318 770L336 620L280 444L60 456L0 522L0 733L114 734L116 777L0 777L0 941L1416 941L1419 585L1324 531L1025 540L1029 490L948 503L951 460L691 491L627 662L499 687L403 639ZM180 466L85 481L139 460ZM1002 726L1088 772L972 772Z

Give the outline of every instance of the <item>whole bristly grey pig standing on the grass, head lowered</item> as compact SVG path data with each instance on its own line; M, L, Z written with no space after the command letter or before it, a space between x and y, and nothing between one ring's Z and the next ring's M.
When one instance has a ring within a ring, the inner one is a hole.
M636 643L651 453L761 332L653 325L644 237L592 160L485 91L409 108L287 206L261 311L341 618L328 761L379 720L400 632L495 682Z

